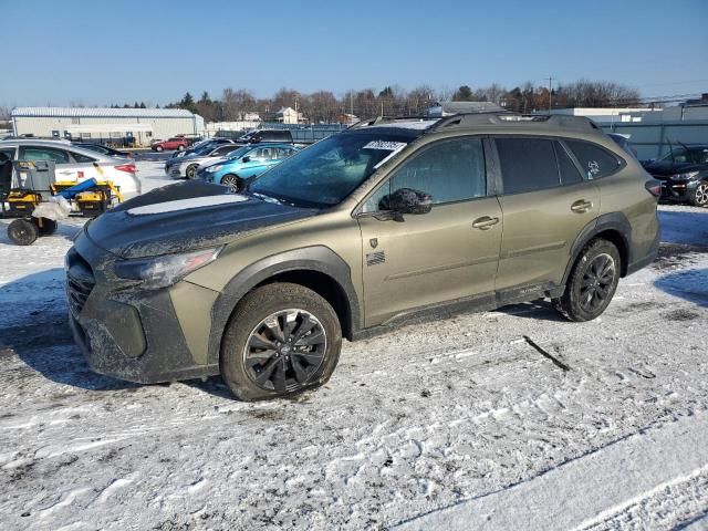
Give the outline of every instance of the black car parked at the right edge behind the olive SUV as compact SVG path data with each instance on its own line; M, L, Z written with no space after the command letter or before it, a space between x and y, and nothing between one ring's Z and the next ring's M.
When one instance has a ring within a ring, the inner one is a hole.
M708 145L681 146L642 164L662 181L663 200L708 207Z

